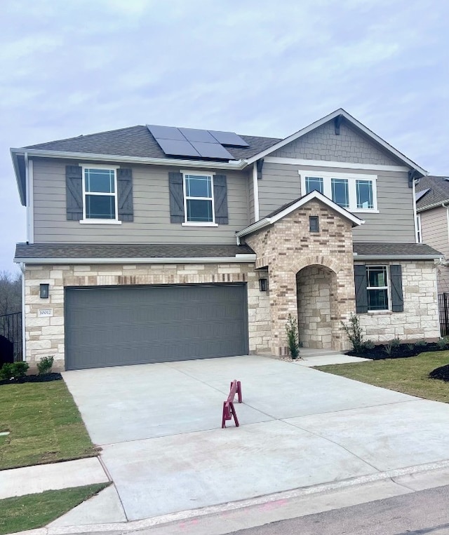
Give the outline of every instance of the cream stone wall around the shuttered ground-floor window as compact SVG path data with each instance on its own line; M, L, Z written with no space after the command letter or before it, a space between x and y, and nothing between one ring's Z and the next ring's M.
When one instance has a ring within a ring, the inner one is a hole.
M356 262L366 264L368 262ZM436 339L440 337L438 302L436 299L436 272L431 262L370 262L371 265L401 264L403 312L375 312L360 314L360 323L366 338L374 342Z

